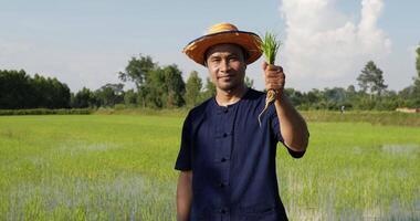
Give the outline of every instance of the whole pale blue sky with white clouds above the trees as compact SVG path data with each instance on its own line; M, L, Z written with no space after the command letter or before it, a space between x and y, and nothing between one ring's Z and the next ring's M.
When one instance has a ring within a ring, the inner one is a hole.
M117 77L133 56L177 64L185 80L204 67L181 53L219 22L276 33L276 64L286 87L300 91L357 86L368 61L400 91L416 76L419 0L0 0L0 70L56 77L72 92L97 90ZM261 63L249 77L263 90ZM127 84L127 88L133 85Z

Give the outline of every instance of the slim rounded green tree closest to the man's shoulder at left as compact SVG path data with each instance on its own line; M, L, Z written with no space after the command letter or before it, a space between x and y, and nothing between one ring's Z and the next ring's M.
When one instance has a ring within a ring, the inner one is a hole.
M187 106L193 107L201 101L202 81L198 72L192 71L186 84L186 103Z

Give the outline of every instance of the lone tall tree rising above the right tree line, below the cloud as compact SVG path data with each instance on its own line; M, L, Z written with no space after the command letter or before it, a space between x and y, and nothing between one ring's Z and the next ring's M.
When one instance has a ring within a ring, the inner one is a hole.
M372 61L369 61L357 77L361 91L367 92L369 90L370 94L376 93L380 96L380 94L388 87L384 84L382 73L384 72L378 69Z

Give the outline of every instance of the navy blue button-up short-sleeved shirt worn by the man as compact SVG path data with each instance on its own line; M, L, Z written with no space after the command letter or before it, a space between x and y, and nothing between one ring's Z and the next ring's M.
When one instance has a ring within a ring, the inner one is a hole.
M190 220L287 219L275 172L283 138L274 105L260 126L264 105L265 94L249 88L235 104L219 106L213 97L189 112L175 168L192 170Z

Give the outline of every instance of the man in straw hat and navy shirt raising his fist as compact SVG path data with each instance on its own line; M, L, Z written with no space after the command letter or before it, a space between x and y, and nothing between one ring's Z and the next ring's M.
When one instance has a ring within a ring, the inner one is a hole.
M277 190L276 144L302 157L308 130L282 93L282 67L265 62L265 87L275 90L276 98L259 125L265 94L244 84L246 65L261 56L259 46L256 34L220 23L183 50L207 66L217 94L191 109L183 124L175 167L178 220L287 220Z

